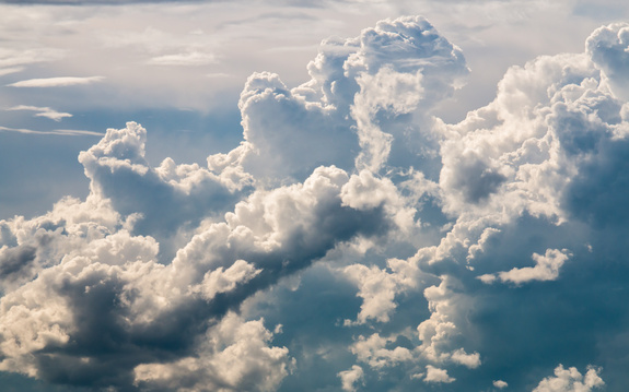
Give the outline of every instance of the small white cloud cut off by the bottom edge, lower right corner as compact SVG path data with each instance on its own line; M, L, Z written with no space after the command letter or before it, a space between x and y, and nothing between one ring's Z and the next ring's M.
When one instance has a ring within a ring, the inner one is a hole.
M539 382L533 392L589 392L605 385L598 377L599 369L587 368L585 376L581 375L576 368L563 368L559 365L555 369L555 377L547 377Z

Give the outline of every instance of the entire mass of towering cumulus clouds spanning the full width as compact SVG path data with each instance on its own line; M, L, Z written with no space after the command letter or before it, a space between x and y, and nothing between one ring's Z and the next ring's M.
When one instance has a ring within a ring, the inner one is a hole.
M107 130L79 156L85 200L0 221L0 370L119 391L622 391L628 37L511 68L453 124L433 109L462 51L385 20L324 40L298 87L252 75L243 141L207 166L151 167L140 124Z

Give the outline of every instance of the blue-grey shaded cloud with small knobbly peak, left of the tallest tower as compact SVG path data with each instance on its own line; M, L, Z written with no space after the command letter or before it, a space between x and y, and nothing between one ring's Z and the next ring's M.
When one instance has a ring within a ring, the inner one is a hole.
M91 191L109 199L119 213L136 214L139 233L163 239L187 223L224 213L251 181L233 166L214 174L197 164L176 165L165 158L159 167L150 167L145 140L147 131L129 122L124 129L108 129L97 144L79 155Z

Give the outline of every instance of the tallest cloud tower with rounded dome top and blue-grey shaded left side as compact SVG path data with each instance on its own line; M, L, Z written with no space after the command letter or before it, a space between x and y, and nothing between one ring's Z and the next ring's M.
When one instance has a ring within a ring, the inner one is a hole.
M415 136L427 136L408 116L426 116L467 72L461 50L419 16L381 21L357 38L325 40L308 64L311 81L293 90L271 73L247 81L240 100L244 165L254 175L303 178L323 163L350 168L354 159L359 169L377 171L392 149L417 159L421 142ZM411 149L394 145L382 124Z

